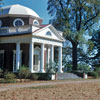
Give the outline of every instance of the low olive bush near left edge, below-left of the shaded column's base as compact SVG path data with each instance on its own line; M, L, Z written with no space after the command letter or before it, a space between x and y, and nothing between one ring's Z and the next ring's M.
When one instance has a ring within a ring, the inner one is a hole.
M16 82L16 75L14 73L6 72L4 74L4 81L6 83L15 83Z

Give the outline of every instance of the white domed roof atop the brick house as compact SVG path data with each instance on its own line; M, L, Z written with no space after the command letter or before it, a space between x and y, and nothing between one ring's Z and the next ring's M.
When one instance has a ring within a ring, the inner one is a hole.
M36 12L34 12L32 9L19 4L6 6L3 7L2 9L3 11L0 12L0 15L5 15L5 14L31 15L40 18L39 15Z

